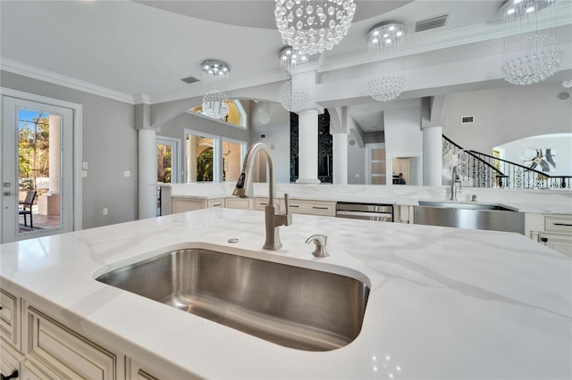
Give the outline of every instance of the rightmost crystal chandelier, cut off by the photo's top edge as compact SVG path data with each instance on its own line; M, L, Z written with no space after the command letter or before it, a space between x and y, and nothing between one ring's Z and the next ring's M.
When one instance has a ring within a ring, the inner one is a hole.
M505 23L501 70L509 83L532 85L559 71L564 57L559 44L559 28L551 20L555 12L545 10L556 2L557 0L509 0L501 6L500 12Z

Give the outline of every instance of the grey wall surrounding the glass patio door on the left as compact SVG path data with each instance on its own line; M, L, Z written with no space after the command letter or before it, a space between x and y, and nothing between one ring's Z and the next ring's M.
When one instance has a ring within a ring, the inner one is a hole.
M88 177L82 178L83 228L137 219L138 136L132 104L7 71L0 71L0 83L29 94L82 104L81 161L88 162L89 168ZM123 176L127 170L130 177ZM109 211L107 215L103 215L104 208Z

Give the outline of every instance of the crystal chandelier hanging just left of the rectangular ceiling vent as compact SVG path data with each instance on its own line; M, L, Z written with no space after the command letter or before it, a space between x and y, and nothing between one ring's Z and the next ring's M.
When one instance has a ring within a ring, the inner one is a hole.
M367 45L373 62L367 91L378 102L390 102L405 87L404 60L400 56L400 45L405 34L405 25L398 21L383 22L367 33Z

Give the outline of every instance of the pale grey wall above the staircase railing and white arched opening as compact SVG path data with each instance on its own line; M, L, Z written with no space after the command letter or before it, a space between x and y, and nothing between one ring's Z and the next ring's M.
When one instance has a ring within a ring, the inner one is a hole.
M564 90L559 83L543 83L447 95L443 135L491 154L494 146L520 138L572 132L572 97L557 97ZM475 123L461 124L461 116L475 116Z

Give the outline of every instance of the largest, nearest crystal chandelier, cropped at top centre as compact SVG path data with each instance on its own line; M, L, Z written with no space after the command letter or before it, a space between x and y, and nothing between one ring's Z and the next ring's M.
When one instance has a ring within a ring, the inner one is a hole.
M348 33L356 13L354 0L274 0L282 43L303 54L332 50Z

